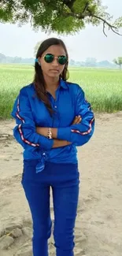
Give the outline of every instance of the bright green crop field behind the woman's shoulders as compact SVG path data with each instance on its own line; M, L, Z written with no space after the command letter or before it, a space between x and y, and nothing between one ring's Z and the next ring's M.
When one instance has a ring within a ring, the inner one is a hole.
M69 81L79 83L95 112L122 110L122 72L110 69L70 68ZM10 118L21 87L31 83L32 65L0 65L0 119Z

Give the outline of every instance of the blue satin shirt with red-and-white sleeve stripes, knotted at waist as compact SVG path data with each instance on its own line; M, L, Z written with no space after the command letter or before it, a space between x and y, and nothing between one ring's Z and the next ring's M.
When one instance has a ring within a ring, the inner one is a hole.
M85 99L83 89L76 83L60 80L56 99L47 93L52 108L50 117L45 104L36 96L34 84L23 87L13 105L12 116L16 120L13 135L24 147L24 159L39 159L40 163L77 163L76 147L87 143L94 133L94 113ZM80 124L72 121L80 115ZM52 148L54 139L47 139L36 132L36 127L57 128L57 139L71 142L65 147Z

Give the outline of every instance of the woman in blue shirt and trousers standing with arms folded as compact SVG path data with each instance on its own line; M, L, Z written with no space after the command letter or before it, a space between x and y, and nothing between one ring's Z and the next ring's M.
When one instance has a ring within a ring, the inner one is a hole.
M57 256L73 256L79 196L76 146L94 132L94 113L84 92L68 83L68 52L61 39L46 39L35 59L35 79L20 90L12 116L13 135L24 147L21 184L33 221L33 255L48 255L50 187L54 201Z

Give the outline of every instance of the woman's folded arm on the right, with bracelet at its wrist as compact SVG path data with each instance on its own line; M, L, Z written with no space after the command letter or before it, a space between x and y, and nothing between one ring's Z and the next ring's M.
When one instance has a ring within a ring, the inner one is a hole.
M80 87L76 96L76 115L82 118L79 124L71 124L64 128L51 128L54 139L65 139L70 143L75 143L76 146L82 146L91 139L94 133L94 113ZM37 131L45 136L47 130L48 128L37 128Z

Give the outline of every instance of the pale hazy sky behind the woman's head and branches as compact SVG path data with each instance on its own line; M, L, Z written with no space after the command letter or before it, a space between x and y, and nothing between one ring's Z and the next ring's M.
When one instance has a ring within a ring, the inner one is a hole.
M108 6L107 12L113 15L113 19L122 16L122 0L102 0L102 5ZM11 57L35 58L35 44L54 36L64 40L70 59L85 61L86 58L96 58L98 61L113 61L114 58L122 56L122 36L107 29L106 32L107 38L102 32L102 25L87 25L76 35L48 35L41 32L41 29L35 32L30 24L20 28L17 24L0 23L0 53ZM122 29L120 32L122 34Z

